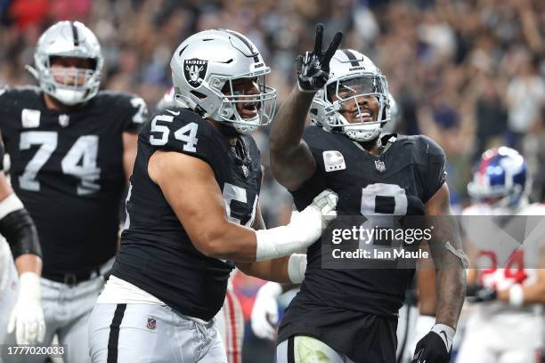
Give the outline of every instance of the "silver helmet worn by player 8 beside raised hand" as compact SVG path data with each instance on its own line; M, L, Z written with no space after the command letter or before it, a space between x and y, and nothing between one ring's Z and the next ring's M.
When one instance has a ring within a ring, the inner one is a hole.
M335 100L332 95L336 96ZM350 124L338 112L343 103L355 101L357 115L363 117L365 114L358 99L367 96L374 96L378 100L376 119ZM380 69L361 52L350 49L335 52L329 62L328 82L313 98L313 122L321 125L324 130L345 133L354 141L370 141L378 137L390 117L388 83Z

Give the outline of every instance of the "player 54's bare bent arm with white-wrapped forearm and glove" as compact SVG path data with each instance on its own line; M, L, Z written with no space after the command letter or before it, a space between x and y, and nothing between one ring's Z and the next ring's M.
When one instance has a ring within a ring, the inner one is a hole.
M150 157L148 173L195 248L208 257L256 262L289 256L312 245L320 238L324 223L336 216L338 197L326 190L288 225L252 230L229 221L214 171L199 157L158 150ZM180 198L184 190L191 190L192 198Z

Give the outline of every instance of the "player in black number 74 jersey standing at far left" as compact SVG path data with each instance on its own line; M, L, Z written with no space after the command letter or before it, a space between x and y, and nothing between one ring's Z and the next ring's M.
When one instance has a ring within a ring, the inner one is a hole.
M34 60L28 69L39 86L0 91L0 130L13 189L42 245L44 341L58 335L69 346L66 359L80 362L88 359L87 322L116 254L120 199L147 111L140 97L99 91L101 46L80 22L46 29Z

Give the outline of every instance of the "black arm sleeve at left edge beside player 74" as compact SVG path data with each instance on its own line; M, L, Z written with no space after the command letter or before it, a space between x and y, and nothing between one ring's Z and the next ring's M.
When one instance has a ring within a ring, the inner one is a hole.
M13 259L21 254L36 254L42 257L37 229L26 209L19 209L2 218L0 233L12 248Z

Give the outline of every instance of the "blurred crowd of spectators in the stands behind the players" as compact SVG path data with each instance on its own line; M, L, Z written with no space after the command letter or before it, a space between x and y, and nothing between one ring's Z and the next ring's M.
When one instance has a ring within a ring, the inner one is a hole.
M341 47L365 53L388 78L400 107L397 129L425 133L448 157L451 202L469 202L466 184L480 153L518 149L533 174L532 198L545 198L545 2L541 0L0 0L0 85L35 84L38 36L57 20L80 20L102 44L102 88L138 93L150 112L171 85L168 63L184 38L232 28L251 38L273 69L279 102L295 84L294 60L343 30ZM291 199L268 168L267 130L255 134L265 166L265 222L288 220ZM258 286L235 279L247 321L245 361L267 361L273 343L248 324Z

